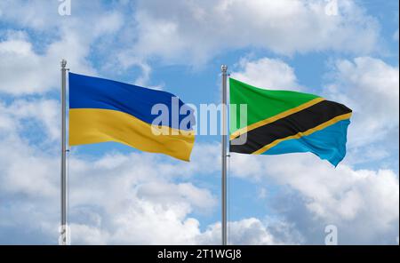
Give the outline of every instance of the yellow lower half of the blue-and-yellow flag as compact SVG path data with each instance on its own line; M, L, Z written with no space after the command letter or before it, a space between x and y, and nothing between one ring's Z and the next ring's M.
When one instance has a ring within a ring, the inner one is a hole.
M152 124L121 111L101 108L69 110L70 146L116 141L141 151L189 161L195 143L194 134L163 127L168 131L156 135L154 128Z

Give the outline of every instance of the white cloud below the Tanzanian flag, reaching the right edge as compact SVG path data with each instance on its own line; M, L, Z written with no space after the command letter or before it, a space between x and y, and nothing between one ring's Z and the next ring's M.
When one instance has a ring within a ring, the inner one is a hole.
M241 164L248 162L252 165ZM259 183L274 179L299 192L312 215L309 219L340 227L343 243L374 243L381 235L388 241L398 231L399 184L394 171L355 170L344 164L333 169L311 154L232 155L231 163L234 176Z

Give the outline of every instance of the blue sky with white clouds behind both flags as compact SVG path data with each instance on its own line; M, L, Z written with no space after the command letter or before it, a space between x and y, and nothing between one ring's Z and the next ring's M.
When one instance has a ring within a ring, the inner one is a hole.
M60 59L72 72L219 103L220 64L354 110L348 155L232 155L229 243L396 244L398 1L0 1L0 243L58 243ZM337 4L337 9L335 5ZM116 143L68 157L73 244L220 243L220 138L191 163Z

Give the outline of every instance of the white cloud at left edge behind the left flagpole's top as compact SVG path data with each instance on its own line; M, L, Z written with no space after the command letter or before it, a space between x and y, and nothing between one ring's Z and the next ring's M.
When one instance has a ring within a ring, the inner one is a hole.
M60 60L63 57L68 58L68 67L74 71L93 73L85 60L88 52L89 49L75 34L50 44L44 54L35 52L27 38L11 36L0 42L0 92L39 94L59 87Z

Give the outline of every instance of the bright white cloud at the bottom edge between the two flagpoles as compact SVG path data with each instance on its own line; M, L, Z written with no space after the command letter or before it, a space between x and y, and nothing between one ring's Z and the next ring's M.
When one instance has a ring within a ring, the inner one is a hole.
M196 235L200 234L199 222L193 218L187 218L189 203L186 205L165 205L149 202L145 198L132 198L126 196L124 203L114 198L117 209L106 207L101 218L108 221L108 226L103 224L94 226L103 233L107 239L91 240L91 243L131 243L131 244L183 244L194 243ZM124 205L123 205L124 204ZM104 204L100 204L103 206ZM113 216L108 213L113 213ZM71 227L72 242L84 241L86 232L79 232L80 227Z

